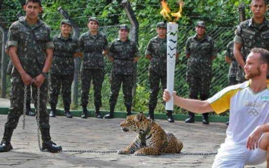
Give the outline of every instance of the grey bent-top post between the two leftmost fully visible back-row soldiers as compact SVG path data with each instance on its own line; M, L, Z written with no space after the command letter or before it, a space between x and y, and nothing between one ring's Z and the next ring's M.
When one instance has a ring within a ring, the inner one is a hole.
M58 8L58 12L61 14L61 16L64 19L68 19L72 25L72 28L74 30L74 37L75 38L79 38L79 27L77 25L77 23L73 20L69 18L68 13L62 8L59 7ZM75 107L78 106L78 83L79 83L79 67L81 64L81 59L79 57L75 58L75 75L74 75L74 81L72 84L72 94L71 94L71 99L72 99L72 103L74 103Z

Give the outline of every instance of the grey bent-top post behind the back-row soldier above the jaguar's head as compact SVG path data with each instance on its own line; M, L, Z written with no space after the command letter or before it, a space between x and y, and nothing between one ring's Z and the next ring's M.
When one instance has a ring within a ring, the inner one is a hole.
M136 44L138 45L139 22L135 17L135 12L133 11L129 0L122 0L121 4L123 5L124 10L125 10L125 12L127 14L127 17L128 17L129 21L132 24L131 39L133 41L135 41ZM132 90L132 95L133 95L132 108L133 109L135 107L135 99L134 99L134 97L135 97L135 94L136 94L136 75L137 75L136 72L137 72L137 63L135 63L134 86L133 86L133 90Z

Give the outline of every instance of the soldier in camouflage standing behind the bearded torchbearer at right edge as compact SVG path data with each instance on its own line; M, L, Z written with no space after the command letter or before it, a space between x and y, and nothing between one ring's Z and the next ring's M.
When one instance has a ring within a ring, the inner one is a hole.
M250 10L253 14L252 18L239 24L234 37L233 54L240 65L236 75L239 83L246 80L244 66L250 50L254 47L269 50L269 20L265 18L266 0L252 0Z

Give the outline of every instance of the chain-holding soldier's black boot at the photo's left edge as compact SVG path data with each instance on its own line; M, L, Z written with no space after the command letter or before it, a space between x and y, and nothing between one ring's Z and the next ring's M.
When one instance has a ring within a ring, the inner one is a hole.
M7 152L13 149L10 143L13 130L13 128L5 128L4 136L0 145L0 152Z

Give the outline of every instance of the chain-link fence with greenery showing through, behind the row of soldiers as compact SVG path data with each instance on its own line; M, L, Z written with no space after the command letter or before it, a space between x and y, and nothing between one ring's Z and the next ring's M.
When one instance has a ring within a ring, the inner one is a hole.
M136 88L136 95L134 97L135 107L133 107L134 111L136 112L147 112L147 104L149 100L148 67L149 67L150 62L144 57L144 53L145 53L145 48L150 38L153 38L156 36L155 26L156 25L141 26L141 27L146 27L146 28L139 30L138 47L141 53L141 59L138 61L138 64L137 64L137 80L136 80L137 88ZM116 37L118 37L117 26L99 27L98 30L99 32L104 33L107 36L109 44ZM87 31L88 31L88 28L86 27L81 28L80 34ZM59 30L53 31L52 35L56 35L58 33L60 33ZM193 35L195 35L194 27L186 27L186 26L179 25L179 30L178 30L178 35L177 35L178 37L177 47L179 50L179 59L176 61L176 65L175 65L174 90L177 91L178 95L181 95L183 97L188 97L188 85L186 83L186 75L185 75L186 67L187 67L187 59L184 53L185 43L186 43L187 38ZM213 66L212 66L212 83L211 83L211 91L210 91L210 94L212 95L227 86L227 83L228 83L227 75L228 75L229 65L226 64L224 60L223 51L225 51L227 44L231 40L233 40L234 34L233 34L233 28L231 27L208 27L207 35L212 37L218 45L218 56L215 60L213 60ZM0 43L0 45L1 44L2 43ZM0 49L1 49L1 46L0 46ZM76 59L78 59L77 60L78 65L76 66L78 70L80 68L81 60L80 58L76 58ZM7 61L8 60L9 58L7 59ZM105 63L106 63L106 66L105 66L106 75L105 75L105 80L102 87L103 89L102 89L101 110L109 110L109 104L108 104L109 93L110 93L109 76L110 76L112 63L109 62L106 57L105 57ZM81 107L79 106L81 83L80 83L79 74L77 75L79 79L78 89L72 90L73 103L72 103L71 109L81 109ZM7 75L6 81L7 81L6 98L9 98L10 76ZM95 107L94 107L92 85L91 85L91 90L90 90L89 95L90 95L89 96L90 99L89 99L88 108L94 109ZM160 91L159 93L158 105L156 107L155 112L165 112L161 97L162 97L162 91ZM58 108L60 107L63 107L61 96L59 96L59 100L58 100ZM125 111L122 91L120 91L115 110ZM176 107L174 111L176 113L184 113L182 109L179 109Z

